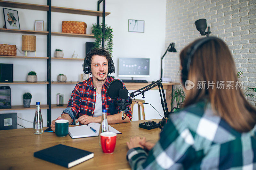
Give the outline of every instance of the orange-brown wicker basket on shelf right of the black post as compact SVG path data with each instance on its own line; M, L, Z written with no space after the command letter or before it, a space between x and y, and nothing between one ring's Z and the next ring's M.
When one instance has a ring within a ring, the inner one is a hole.
M62 21L62 33L86 34L86 23L79 21Z

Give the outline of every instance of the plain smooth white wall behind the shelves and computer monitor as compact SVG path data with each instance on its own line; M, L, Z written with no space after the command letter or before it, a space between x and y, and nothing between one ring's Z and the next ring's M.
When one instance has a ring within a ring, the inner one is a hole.
M10 0L13 1L13 0ZM16 1L17 2L17 1ZM20 0L22 3L32 3L47 5L46 1L40 2L33 0ZM84 1L68 1L68 0L54 0L52 6L97 10L97 0ZM1 7L2 8L2 7ZM102 4L100 10L102 11ZM44 31L47 31L47 12L35 11L26 9L15 9L19 14L20 29L34 30L35 20L44 20ZM166 0L107 0L106 12L111 12L105 18L105 24L113 28L113 61L116 64L116 73L112 76L117 77L117 61L119 57L145 57L150 58L150 78L149 82L160 78L160 58L165 50L165 15L166 15ZM0 12L0 27L4 25L3 12ZM128 32L128 19L138 19L145 21L144 33ZM67 14L52 12L52 32L61 32L62 21L83 21L87 24L87 34L91 33L92 24L97 22L97 17ZM100 22L102 18L100 17ZM2 33L0 32L0 43L16 45L21 50L22 35L19 33ZM85 54L85 42L93 42L90 38L77 37L51 37L51 56L53 57L56 48L63 49L64 57L71 57L74 50L83 58ZM47 52L47 37L45 35L36 35L36 56L45 57ZM17 56L22 56L17 50ZM29 56L33 56L31 52ZM46 80L46 60L33 59L7 59L0 58L0 63L13 63L14 65L14 81L26 81L26 75L29 71L34 70L37 73L38 81ZM51 79L57 80L58 74L67 75L67 81L80 81L80 74L82 70L83 61L68 61L68 60L52 60L51 61ZM120 78L122 79L122 78ZM22 94L30 92L32 94L31 105L37 101L41 104L46 104L46 85L10 85L12 89L12 105L23 105ZM71 95L74 85L52 85L51 98L52 104L56 104L56 93L64 94L65 103ZM137 90L137 89L135 89ZM132 92L132 91L129 91ZM158 90L152 90L146 93L146 102L151 103L156 110L163 115L160 104L160 97ZM158 96L159 99L152 98ZM138 99L141 97L138 96ZM145 105L146 119L160 118L156 111L149 105ZM63 109L52 109L52 120L56 119ZM34 119L35 110L12 110L0 111L3 113L17 113L19 117L32 121ZM42 110L44 126L47 126L47 110ZM133 120L138 120L137 106L134 107ZM18 124L26 128L32 128L32 123L25 122L18 118ZM18 126L18 128L21 128Z

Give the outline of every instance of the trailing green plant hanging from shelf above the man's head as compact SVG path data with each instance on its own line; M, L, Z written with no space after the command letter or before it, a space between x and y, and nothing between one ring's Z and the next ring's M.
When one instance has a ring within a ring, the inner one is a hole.
M102 41L103 33L102 33L102 24L92 24L92 33L94 34L94 37L96 38L94 42L94 48L100 48L100 44ZM105 25L105 35L104 35L104 41L107 42L104 48L107 48L108 51L112 52L113 47L113 30L110 26Z

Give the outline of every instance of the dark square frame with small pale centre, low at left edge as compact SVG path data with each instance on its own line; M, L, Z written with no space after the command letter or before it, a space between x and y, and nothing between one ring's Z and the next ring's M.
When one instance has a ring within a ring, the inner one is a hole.
M17 129L17 113L0 114L0 130Z

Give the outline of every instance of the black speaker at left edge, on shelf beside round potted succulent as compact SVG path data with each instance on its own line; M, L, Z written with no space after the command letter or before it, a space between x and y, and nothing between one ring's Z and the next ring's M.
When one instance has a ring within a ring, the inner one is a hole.
M0 82L13 82L13 64L0 64Z

